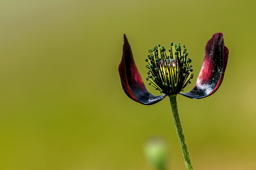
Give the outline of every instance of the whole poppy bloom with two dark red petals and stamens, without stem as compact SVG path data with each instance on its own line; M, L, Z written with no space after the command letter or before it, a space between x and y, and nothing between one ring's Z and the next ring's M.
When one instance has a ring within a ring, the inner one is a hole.
M173 43L171 43L173 46ZM123 54L119 64L119 75L122 88L125 94L132 100L152 105L166 96L181 94L191 99L202 99L215 93L223 80L228 60L228 48L224 45L223 34L216 33L208 41L205 48L205 58L199 73L196 86L188 93L180 93L190 83L194 74L191 59L188 56L185 46L181 52L180 44L169 49L170 55L166 55L164 46L158 44L149 50L146 67L148 77L146 78L151 86L163 93L155 96L149 93L135 65L131 46L124 35Z

